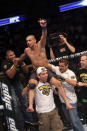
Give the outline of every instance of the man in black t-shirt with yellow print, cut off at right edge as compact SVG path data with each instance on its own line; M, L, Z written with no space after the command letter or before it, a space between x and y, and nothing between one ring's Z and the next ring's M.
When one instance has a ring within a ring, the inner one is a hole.
M77 86L79 90L78 94L82 102L83 113L87 120L87 54L81 56L80 64L81 68L77 71Z

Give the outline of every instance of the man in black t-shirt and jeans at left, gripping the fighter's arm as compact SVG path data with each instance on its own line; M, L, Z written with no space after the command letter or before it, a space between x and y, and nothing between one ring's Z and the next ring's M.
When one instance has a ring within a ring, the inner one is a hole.
M19 71L28 73L28 67L25 62L19 62L19 58L16 57L14 51L8 50L6 60L2 62L1 68L10 84L8 87L12 92L16 121L20 127L19 131L24 131L24 122L33 122L33 117L31 112L26 112L28 101L25 96L22 96L24 87L19 79Z

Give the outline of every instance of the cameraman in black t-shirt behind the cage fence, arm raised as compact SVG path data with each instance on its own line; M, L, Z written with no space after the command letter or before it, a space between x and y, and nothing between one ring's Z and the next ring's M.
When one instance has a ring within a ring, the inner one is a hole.
M58 37L58 45L55 45L52 48L50 48L51 59L70 55L70 53L75 52L75 47L67 41L67 38L62 33Z

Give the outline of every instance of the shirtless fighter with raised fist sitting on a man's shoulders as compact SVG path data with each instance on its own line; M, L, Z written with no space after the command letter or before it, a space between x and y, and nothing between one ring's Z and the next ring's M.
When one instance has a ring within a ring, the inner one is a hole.
M29 59L32 62L32 66L34 70L36 70L38 67L48 66L48 60L46 57L46 51L45 51L45 45L46 45L46 37L47 37L47 23L46 20L40 19L39 20L40 26L42 28L42 36L39 42L36 42L36 39L33 35L28 35L26 37L26 42L27 42L27 48L24 50L24 54L21 55L20 59L23 59L26 55L29 57ZM64 89L61 86L61 83L53 77L51 72L48 72L49 74L49 82L56 86L58 88L58 91L60 95L63 97L66 107L68 109L73 109L73 107L69 104L68 99L66 97L66 94L64 92ZM33 74L31 74L30 79L29 79L29 88L28 86L23 90L23 92L26 92L29 90L29 107L27 111L34 111L33 109L33 96L34 96L34 88L38 84L37 81L37 76L36 76L36 71L34 71ZM23 93L24 95L25 93Z

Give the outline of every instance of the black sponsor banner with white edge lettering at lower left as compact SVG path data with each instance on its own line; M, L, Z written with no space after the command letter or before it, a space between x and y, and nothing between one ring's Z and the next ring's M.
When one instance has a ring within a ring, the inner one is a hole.
M3 82L0 82L0 88L1 88L1 99L4 105L4 112L6 116L8 131L19 131L15 119L15 111L13 99L11 96L11 88L9 88L8 85Z

